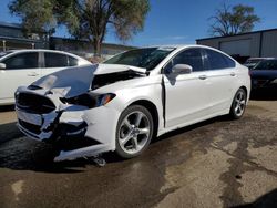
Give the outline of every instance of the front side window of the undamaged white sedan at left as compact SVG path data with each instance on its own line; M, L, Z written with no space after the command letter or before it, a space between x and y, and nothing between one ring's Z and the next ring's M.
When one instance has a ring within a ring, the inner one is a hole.
M39 53L20 53L3 61L7 70L35 69L39 67Z

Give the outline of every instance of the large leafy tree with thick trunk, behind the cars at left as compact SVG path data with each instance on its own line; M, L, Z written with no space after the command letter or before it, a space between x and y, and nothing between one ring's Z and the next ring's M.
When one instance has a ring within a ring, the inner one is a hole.
M34 6L49 2L42 7L42 17ZM131 39L143 30L150 11L148 0L13 0L12 13L22 18L23 25L32 28L51 28L52 22L66 25L70 34L89 40L94 48L94 55L101 54L101 44L107 30L112 30L121 41ZM52 12L52 13L51 13Z

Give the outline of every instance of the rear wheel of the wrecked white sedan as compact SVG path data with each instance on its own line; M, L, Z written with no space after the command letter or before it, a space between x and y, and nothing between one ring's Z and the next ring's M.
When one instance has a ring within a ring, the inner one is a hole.
M233 98L232 106L229 110L229 117L232 119L239 119L244 115L246 108L246 101L247 95L245 90L238 89Z

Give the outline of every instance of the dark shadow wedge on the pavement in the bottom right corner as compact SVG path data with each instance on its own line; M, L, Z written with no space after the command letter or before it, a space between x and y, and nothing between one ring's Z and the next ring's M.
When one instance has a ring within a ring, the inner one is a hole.
M232 208L261 208L261 207L277 207L277 188L263 195L254 202L239 205Z

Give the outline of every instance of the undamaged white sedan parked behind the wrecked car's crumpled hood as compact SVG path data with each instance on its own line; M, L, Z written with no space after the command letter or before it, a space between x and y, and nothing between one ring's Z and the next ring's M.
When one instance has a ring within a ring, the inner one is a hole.
M71 53L52 50L13 50L0 53L0 105L13 104L18 86L65 67L89 65Z

